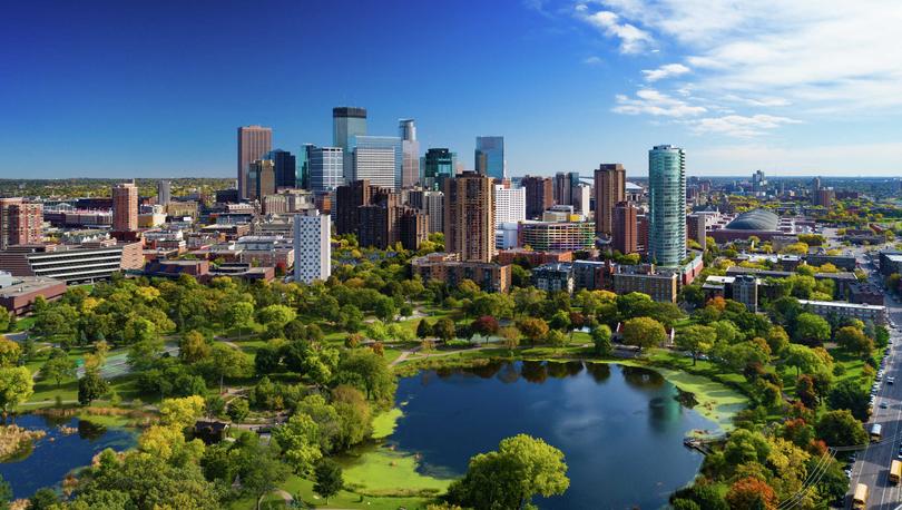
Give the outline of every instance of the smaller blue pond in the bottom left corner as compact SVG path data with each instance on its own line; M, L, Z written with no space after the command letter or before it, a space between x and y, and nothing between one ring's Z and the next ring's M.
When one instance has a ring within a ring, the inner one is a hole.
M47 431L47 435L31 449L0 462L0 475L12 486L13 498L28 498L41 487L58 486L69 471L90 464L94 455L107 448L121 451L135 445L135 434L126 429L106 428L78 418L24 414L16 418L16 424ZM60 425L77 432L65 434Z

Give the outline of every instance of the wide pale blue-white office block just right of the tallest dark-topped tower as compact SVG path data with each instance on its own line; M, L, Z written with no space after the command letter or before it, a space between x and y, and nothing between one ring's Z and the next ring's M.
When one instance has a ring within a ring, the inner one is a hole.
M357 136L354 145L354 179L369 179L373 186L401 190L404 156L401 138L395 136Z

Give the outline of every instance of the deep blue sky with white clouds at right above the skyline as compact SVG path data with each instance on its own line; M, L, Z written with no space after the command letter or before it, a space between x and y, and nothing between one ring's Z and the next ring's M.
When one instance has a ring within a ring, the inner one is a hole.
M331 109L421 149L590 175L686 149L689 175L902 176L902 2L10 2L0 178L236 173L236 128L296 153Z

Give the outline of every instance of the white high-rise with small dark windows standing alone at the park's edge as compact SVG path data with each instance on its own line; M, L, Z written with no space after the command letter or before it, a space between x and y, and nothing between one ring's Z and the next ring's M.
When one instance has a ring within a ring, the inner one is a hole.
M332 274L332 220L327 214L310 209L294 215L294 281L313 283Z

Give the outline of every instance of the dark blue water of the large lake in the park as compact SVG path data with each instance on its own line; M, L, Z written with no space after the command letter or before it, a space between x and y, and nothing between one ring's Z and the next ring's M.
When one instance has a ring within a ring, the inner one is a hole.
M404 410L389 438L422 454L421 471L458 477L471 455L527 433L560 449L570 488L541 509L656 509L693 480L703 457L683 445L716 424L677 401L657 372L568 362L424 371L400 381Z

